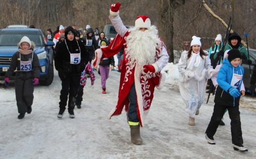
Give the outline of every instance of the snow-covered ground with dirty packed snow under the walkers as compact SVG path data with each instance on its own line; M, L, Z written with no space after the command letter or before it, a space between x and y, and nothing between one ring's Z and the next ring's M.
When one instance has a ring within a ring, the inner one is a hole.
M57 119L61 83L55 70L50 86L35 86L32 113L17 119L13 84L0 85L0 158L255 158L256 100L241 98L240 112L244 145L249 149L234 151L231 144L230 119L219 126L216 145L206 142L204 132L214 108L214 96L206 99L196 116L196 126L188 125L188 115L179 93L177 65L163 69L165 86L155 90L150 112L141 128L143 145L131 143L125 112L106 119L115 106L120 73L113 71L101 93L100 76L84 87L82 108L75 108L75 119L65 112Z

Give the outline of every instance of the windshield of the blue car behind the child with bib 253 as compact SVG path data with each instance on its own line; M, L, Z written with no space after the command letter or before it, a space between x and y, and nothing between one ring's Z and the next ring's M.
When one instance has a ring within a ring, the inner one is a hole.
M37 47L42 47L45 45L40 32L8 31L0 34L0 46L17 46L18 42L23 36L27 36L35 43L35 46Z

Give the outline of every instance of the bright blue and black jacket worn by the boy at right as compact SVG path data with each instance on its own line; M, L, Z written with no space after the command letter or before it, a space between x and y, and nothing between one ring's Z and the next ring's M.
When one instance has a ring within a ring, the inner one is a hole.
M216 95L214 99L215 103L226 105L226 106L239 106L239 100L241 96L239 96L238 98L233 98L228 93L228 90L232 87L230 83L231 83L233 74L244 75L244 68L241 65L234 67L228 61L228 59L224 59L223 65L221 66L221 69L217 77L217 82L219 86L216 89ZM243 76L237 88L238 90L240 90L241 88L242 81L243 81Z

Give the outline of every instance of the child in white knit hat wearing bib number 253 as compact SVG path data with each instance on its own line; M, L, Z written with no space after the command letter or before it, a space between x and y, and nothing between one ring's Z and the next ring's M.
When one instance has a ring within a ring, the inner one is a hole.
M31 113L34 85L38 84L40 63L33 52L34 43L24 36L18 43L18 51L13 54L11 64L5 74L5 85L9 85L9 78L16 70L15 94L18 107L18 119L23 119L25 113Z

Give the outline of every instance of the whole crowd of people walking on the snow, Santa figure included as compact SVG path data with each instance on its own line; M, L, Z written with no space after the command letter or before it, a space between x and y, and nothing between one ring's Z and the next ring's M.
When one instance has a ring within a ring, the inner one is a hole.
M76 26L58 26L56 31L47 30L47 38L53 41L54 64L61 80L58 119L68 105L69 117L75 118L74 107L81 108L83 89L87 78L94 84L93 70L98 69L101 77L102 94L106 94L106 80L114 69L114 55L118 55L120 85L118 101L110 111L108 118L120 115L123 108L127 112L127 123L131 129L131 142L141 145L140 127L151 107L155 87L161 89L165 80L161 73L169 56L164 41L158 36L156 26L145 15L135 20L135 27L127 29L119 16L121 4L111 6L110 20L116 28L117 36L106 39L104 32L93 30L89 25L85 32L76 30ZM178 70L180 73L180 94L188 113L188 125L195 126L195 117L200 113L206 93L206 79L214 85L215 105L211 120L205 132L209 144L216 144L214 135L222 122L226 111L231 119L231 136L234 150L248 151L243 146L239 100L245 95L243 84L243 63L251 64L241 37L231 33L223 46L222 36L218 34L209 53L201 48L201 38L193 36L190 49L181 54ZM17 60L19 59L19 60ZM24 70L29 66L30 69ZM13 55L11 66L6 73L5 84L17 69L15 92L18 107L18 119L25 113L31 113L33 103L33 85L38 84L39 61L33 53L33 42L24 36L18 44L18 52ZM251 92L255 90L254 78L251 80ZM254 88L254 89L253 89ZM223 124L222 124L223 125Z

